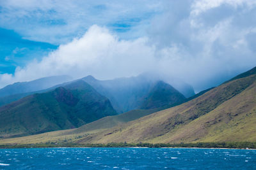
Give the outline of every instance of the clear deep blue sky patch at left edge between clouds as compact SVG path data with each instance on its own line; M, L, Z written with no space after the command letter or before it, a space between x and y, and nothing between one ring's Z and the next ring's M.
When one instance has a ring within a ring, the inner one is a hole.
M0 29L0 74L15 73L16 67L24 67L29 60L41 59L58 48L51 43L22 39L16 32Z

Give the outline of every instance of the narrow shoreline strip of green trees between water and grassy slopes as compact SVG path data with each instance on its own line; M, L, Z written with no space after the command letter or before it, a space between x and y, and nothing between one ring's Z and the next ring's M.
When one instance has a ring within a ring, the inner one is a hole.
M248 149L255 150L256 142L222 143L35 143L0 144L0 148L205 148L205 149Z

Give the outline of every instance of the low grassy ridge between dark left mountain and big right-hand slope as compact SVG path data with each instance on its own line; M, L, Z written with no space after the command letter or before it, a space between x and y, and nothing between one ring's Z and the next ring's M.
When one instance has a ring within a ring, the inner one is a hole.
M122 113L120 115L100 118L99 120L91 122L90 124L83 125L77 129L46 132L43 134L24 136L20 138L0 139L0 144L6 144L6 143L28 144L28 143L41 143L41 142L46 143L48 141L51 141L54 143L56 142L61 143L66 140L69 141L69 139L72 139L72 141L76 141L77 139L82 138L84 136L95 134L95 132L106 131L106 129L115 127L116 125L121 125L121 124L130 122L132 120L136 120L140 117L144 117L156 111L157 109L132 110L126 113Z

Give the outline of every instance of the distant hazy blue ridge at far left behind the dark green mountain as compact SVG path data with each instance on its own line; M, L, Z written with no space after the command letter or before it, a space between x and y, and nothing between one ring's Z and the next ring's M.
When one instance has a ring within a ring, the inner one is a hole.
M71 81L72 78L69 76L49 76L45 78L40 78L33 81L17 82L12 85L7 85L3 89L0 89L0 97L12 96L15 94L25 94L28 92L35 92L38 90L48 89L54 85L60 83Z

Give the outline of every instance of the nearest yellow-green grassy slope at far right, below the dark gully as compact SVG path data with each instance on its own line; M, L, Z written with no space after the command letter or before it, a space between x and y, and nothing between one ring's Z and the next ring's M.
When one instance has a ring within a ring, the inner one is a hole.
M256 141L256 82L215 110L152 142Z

